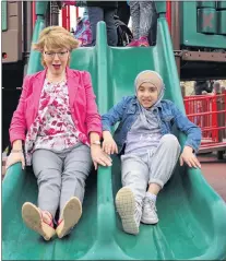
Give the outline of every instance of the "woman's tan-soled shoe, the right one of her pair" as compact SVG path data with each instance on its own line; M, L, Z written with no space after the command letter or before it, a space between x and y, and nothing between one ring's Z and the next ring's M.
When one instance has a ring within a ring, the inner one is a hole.
M62 212L62 222L57 227L56 232L59 238L68 235L71 228L79 222L82 215L82 205L76 197L71 198L64 205Z

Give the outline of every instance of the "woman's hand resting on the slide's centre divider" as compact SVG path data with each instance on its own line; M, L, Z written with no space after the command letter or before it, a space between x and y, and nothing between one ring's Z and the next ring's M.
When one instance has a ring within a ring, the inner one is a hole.
M100 145L91 145L91 156L94 163L95 170L97 169L98 164L105 167L109 167L112 165L112 159L105 152L103 152Z

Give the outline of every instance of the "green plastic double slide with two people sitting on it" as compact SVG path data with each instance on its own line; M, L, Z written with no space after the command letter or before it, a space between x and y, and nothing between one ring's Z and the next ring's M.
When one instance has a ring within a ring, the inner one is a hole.
M33 40L44 26L38 21ZM159 72L166 98L185 111L179 80L165 17L158 19L157 46L110 48L106 27L98 24L97 45L72 54L71 68L92 74L99 112L106 112L122 96L133 94L135 75L146 69ZM40 70L39 56L32 52L28 73ZM180 144L185 137L175 130ZM160 158L159 158L160 161ZM214 174L213 174L214 175ZM69 237L46 242L22 221L25 201L37 201L32 171L21 164L10 167L2 186L3 260L224 260L226 258L226 204L207 185L199 169L176 167L157 200L159 223L141 225L138 236L124 234L115 209L121 187L120 161L100 167L87 179L83 216Z

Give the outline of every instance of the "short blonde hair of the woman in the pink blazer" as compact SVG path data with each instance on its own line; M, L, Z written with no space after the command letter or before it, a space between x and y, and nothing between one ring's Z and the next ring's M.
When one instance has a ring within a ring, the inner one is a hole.
M79 40L76 40L71 33L63 27L49 26L40 32L38 41L33 44L33 49L43 52L45 47L49 50L67 48L69 51L71 51L76 49L79 44ZM41 64L46 67L44 57L41 57Z

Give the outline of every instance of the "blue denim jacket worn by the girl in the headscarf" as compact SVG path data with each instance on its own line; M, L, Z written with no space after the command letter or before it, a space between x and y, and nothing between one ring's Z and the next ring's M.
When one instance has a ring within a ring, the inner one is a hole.
M139 100L135 96L127 96L115 105L107 114L102 116L103 131L110 131L111 126L120 121L114 139L118 145L119 154L126 145L127 134L130 131L133 122L139 115ZM176 105L168 100L163 99L154 109L157 115L162 134L171 133L173 126L187 134L185 145L191 146L194 152L199 151L201 143L201 130L198 126L192 123L186 115L183 115Z

